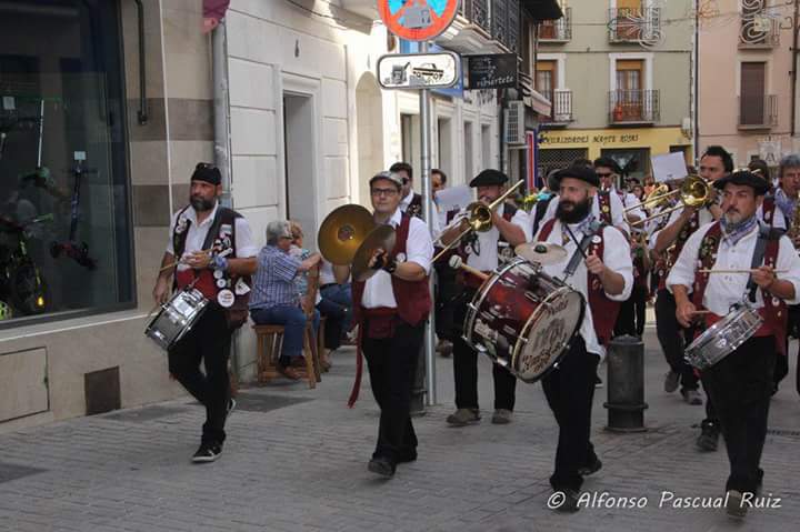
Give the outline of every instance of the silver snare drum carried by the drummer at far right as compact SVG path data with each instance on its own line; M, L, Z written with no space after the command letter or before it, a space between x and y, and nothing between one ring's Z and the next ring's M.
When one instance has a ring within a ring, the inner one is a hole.
M728 315L696 338L683 357L691 367L707 370L748 341L762 323L763 318L756 309L738 303Z

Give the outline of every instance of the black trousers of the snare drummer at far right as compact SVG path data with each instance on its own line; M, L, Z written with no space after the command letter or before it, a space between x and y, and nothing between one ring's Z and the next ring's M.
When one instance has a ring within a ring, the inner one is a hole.
M751 338L702 373L722 426L730 476L726 490L756 492L767 438L774 337Z

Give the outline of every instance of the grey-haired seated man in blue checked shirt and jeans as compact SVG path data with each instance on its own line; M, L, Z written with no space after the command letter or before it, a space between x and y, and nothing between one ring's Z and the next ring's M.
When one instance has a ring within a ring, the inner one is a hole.
M293 365L302 362L307 314L300 307L294 279L317 265L320 255L300 261L289 253L292 240L289 222L273 221L267 225L267 245L259 252L250 295L250 317L259 325L283 325L278 371L297 380L300 374Z

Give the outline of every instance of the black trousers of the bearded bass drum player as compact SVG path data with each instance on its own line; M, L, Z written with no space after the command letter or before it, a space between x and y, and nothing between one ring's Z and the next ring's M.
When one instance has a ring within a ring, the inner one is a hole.
M556 470L550 485L579 491L583 478L578 470L597 460L590 440L594 375L600 358L588 353L576 337L558 368L542 379L542 389L559 425Z

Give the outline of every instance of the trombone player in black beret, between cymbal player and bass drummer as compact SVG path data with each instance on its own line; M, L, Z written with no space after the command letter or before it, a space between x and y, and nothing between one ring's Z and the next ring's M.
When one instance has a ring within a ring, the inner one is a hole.
M498 170L483 170L472 181L470 187L478 189L478 199L484 204L500 198L503 193L508 175ZM463 209L456 215L464 219L469 215ZM489 231L472 232L464 237L461 243L461 254L466 255L467 265L490 272L498 267L513 259L514 245L526 242L529 239L528 215L522 209L517 209L508 202L501 203L492 212L492 228ZM456 227L444 231L442 240L447 243L452 241L461 228ZM477 285L470 284L470 278L464 277L464 285L460 301L457 304L453 317L453 324L460 328L464 321L467 303L472 300ZM457 299L459 301L459 299ZM478 353L467 344L461 335L462 331L452 334L453 337L453 375L456 380L456 412L447 418L447 422L453 426L464 426L480 421L478 406ZM517 378L498 364L492 364L492 378L494 380L494 414L492 423L507 424L511 422L514 408Z

